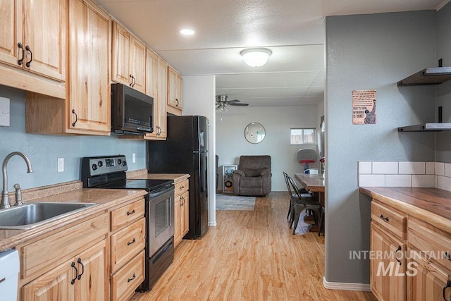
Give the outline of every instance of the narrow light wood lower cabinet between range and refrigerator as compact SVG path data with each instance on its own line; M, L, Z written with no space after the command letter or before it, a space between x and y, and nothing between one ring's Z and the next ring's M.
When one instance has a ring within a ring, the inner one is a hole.
M174 246L182 241L190 231L190 192L188 179L179 180L175 185L174 202Z

